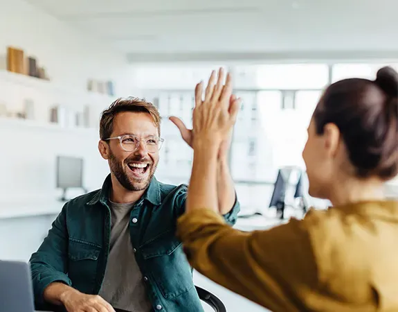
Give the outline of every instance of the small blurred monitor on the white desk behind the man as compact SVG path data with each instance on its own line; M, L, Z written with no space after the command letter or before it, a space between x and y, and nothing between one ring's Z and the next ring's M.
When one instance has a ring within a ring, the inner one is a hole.
M67 189L84 189L83 164L80 157L57 156L57 188L64 191L61 200L66 200Z

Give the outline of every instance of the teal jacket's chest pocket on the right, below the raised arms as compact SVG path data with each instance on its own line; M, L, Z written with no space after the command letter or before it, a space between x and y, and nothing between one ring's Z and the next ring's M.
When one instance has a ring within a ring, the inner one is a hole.
M174 230L143 245L141 253L146 271L166 299L178 297L194 287L192 270Z

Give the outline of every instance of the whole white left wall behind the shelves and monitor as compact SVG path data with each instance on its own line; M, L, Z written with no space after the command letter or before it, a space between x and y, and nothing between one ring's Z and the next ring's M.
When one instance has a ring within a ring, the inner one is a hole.
M96 129L48 126L49 107L62 104L73 110L91 105L91 122L116 98L87 94L88 79L114 80L116 95L128 96L130 69L122 53L109 49L82 31L74 30L22 0L0 0L0 55L15 46L33 55L46 67L51 83L10 76L0 71L0 103L19 110L24 100L35 103L36 121L0 119L0 202L48 199L55 189L55 157L73 155L85 160L86 187L101 187L107 163L97 150ZM56 86L56 87L53 87Z

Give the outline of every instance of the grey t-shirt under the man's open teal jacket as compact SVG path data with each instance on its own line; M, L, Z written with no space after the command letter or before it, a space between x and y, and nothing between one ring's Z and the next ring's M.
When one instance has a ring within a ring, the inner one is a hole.
M130 312L152 311L130 239L129 217L134 204L110 204L110 249L99 295L114 308Z

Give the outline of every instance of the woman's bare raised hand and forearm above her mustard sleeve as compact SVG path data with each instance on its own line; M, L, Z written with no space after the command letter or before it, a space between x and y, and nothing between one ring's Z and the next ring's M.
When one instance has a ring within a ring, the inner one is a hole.
M225 85L223 83L224 69L220 69L218 79L215 71L212 71L204 100L202 100L202 83L199 83L195 89L195 110L193 112L193 131L195 133L192 143L194 159L188 189L187 211L203 208L219 211L217 159L221 143L228 139L230 130L233 128L239 107L237 98L233 98L230 103L232 80L229 74L226 76ZM230 207L232 205L233 203Z

